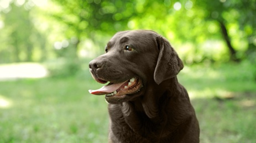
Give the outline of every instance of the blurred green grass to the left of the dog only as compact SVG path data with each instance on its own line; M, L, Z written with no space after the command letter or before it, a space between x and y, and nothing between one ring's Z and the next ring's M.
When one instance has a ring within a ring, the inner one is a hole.
M80 79L0 83L11 102L0 112L0 142L104 142L107 105L87 94L96 83Z

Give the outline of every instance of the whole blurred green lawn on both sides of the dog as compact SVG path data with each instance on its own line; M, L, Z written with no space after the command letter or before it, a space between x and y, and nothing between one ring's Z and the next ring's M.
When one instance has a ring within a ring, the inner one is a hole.
M86 63L87 64L87 63ZM77 76L0 82L0 142L107 142L102 86L87 66ZM201 128L201 142L256 142L255 69L247 63L194 65L179 74Z

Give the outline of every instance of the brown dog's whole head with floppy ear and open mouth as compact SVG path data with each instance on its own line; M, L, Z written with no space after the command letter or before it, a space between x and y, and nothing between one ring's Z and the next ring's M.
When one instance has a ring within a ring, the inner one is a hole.
M108 103L131 101L148 86L158 86L183 68L170 43L149 30L117 32L107 43L106 53L93 59L90 72L98 83L108 85L91 94L106 95Z

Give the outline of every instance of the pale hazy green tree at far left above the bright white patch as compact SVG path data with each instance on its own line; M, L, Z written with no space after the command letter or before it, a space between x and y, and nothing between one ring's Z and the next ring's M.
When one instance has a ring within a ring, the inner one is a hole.
M40 47L38 42L43 40L30 18L32 7L28 8L23 4L10 2L9 10L0 13L5 25L1 31L3 31L3 34L8 34L6 35L8 42L3 47L3 51L11 51L8 56L9 60L6 61L34 61L34 50L36 47Z

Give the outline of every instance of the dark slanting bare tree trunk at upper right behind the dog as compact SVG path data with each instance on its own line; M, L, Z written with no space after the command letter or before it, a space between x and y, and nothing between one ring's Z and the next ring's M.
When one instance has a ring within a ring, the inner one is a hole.
M237 52L236 52L236 50L234 50L233 46L231 45L231 40L228 35L228 30L227 30L226 25L223 23L223 21L218 21L218 22L220 23L222 36L223 36L224 40L226 41L228 51L230 53L230 61L239 62L239 59L236 57Z

